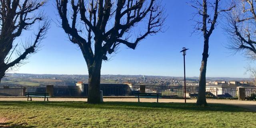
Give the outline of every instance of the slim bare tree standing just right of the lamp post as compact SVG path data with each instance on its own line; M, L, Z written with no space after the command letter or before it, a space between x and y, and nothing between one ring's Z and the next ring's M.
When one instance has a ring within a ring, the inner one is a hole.
M202 62L200 67L199 76L199 88L198 88L198 99L196 105L207 106L206 102L206 66L208 59L209 50L209 38L217 26L217 19L221 12L230 11L234 6L230 6L228 9L221 9L220 0L202 0L202 3L198 0L193 0L192 7L196 8L197 13L195 14L202 17L202 20L196 20L195 31L202 32L204 36L204 51L202 54Z

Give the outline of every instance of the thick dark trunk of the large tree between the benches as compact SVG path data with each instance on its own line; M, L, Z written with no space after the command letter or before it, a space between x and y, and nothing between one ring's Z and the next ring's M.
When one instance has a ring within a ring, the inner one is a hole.
M98 104L100 103L100 70L102 60L94 61L94 64L90 66L89 72L89 88L88 88L88 103Z

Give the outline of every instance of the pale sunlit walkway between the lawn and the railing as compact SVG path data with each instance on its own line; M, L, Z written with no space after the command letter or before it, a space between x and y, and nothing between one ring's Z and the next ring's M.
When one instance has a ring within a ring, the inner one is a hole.
M26 101L27 98L0 98L0 101ZM43 101L44 98L32 98L34 101ZM87 98L49 98L49 101L87 101ZM112 102L138 102L138 98L104 98L104 101ZM156 102L154 98L140 98L140 102ZM182 99L159 99L159 102L180 102ZM196 103L196 99L189 99L187 103ZM241 100L220 100L220 99L207 99L207 103L215 104L230 104L234 106L240 106L248 110L256 112L256 101L241 101Z

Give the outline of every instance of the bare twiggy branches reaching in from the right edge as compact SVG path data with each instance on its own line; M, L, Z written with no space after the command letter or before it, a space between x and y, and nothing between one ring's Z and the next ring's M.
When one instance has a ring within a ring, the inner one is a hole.
M254 0L236 0L236 8L228 16L226 32L230 42L228 48L243 52L250 60L256 60L256 12Z

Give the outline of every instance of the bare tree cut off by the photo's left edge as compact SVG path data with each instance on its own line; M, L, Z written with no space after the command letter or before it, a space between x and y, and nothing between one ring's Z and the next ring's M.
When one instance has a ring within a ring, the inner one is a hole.
M45 2L45 0L0 0L0 82L8 69L20 66L29 54L35 53L44 38L50 23L42 13L38 12L38 9ZM30 40L31 42L20 45L15 43L24 30L28 30L41 20L44 22L38 24L38 33L35 34L34 41Z

